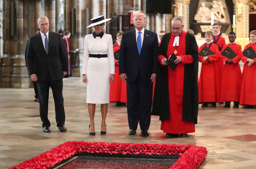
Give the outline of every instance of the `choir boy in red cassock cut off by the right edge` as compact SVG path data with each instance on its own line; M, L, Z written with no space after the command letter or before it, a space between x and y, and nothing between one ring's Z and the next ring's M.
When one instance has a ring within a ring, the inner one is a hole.
M252 47L256 53L256 30L250 32L250 43L245 46L245 49ZM241 89L240 104L243 108L256 108L256 58L249 59L243 55L243 81Z

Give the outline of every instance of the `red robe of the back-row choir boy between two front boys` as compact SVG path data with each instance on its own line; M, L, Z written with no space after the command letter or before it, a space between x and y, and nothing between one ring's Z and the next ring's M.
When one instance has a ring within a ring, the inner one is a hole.
M223 46L226 45L226 40L225 38L223 38L222 36L220 35L217 35L217 36L213 36L213 41L216 42L220 47L221 49L223 49ZM219 37L219 39L218 39ZM220 50L219 50L220 51ZM221 60L217 60L216 61L216 65L217 65L217 69L218 69L218 72L219 72L219 82L221 82L221 79L222 79L222 72L223 72L223 68L224 68L224 64L223 64L223 61Z

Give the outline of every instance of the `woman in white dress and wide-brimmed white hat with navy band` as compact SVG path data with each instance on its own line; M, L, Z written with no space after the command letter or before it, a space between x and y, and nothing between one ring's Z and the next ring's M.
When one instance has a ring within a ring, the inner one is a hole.
M82 81L87 84L86 103L90 117L89 134L95 135L94 115L95 104L100 104L102 115L101 134L106 134L106 114L109 103L110 83L114 81L115 60L113 54L113 40L110 34L102 32L105 22L104 16L91 19L94 27L92 34L85 36L84 55L82 59Z

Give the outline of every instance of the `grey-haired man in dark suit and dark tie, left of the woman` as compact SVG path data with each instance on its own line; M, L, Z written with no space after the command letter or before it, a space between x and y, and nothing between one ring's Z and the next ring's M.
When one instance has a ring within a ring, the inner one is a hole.
M51 132L50 121L48 120L50 87L54 98L57 127L61 132L66 132L62 79L68 70L67 49L61 35L49 31L47 17L39 17L37 26L40 32L31 36L28 42L27 63L31 80L37 82L43 132Z

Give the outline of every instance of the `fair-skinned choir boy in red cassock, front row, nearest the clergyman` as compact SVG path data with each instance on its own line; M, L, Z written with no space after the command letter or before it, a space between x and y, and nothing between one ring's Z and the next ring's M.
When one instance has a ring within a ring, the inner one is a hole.
M210 57L217 57L219 49L213 43L213 32L207 31L205 33L205 43L200 46L199 52L206 46L214 55L200 56L199 61L202 62L201 73L199 78L199 103L202 103L202 108L208 107L208 102L212 103L212 107L216 108L216 102L219 102L219 74L217 64L210 60Z

